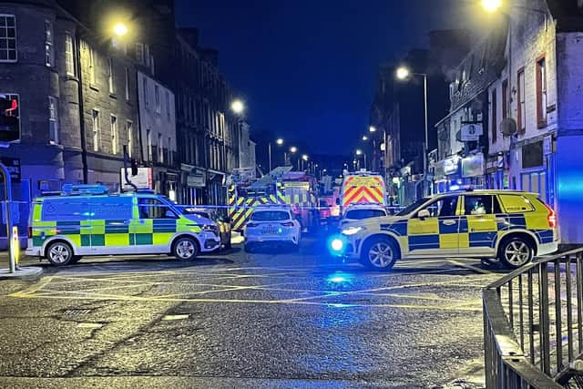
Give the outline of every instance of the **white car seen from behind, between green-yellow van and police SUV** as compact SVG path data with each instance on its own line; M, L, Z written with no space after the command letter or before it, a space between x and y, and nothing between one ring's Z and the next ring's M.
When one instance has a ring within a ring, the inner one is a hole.
M291 244L297 250L300 244L302 227L295 220L290 207L270 205L258 206L243 230L245 251L255 247L275 244Z

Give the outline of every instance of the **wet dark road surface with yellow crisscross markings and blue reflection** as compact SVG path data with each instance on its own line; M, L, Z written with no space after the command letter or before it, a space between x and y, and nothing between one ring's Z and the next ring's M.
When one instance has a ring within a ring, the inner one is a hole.
M484 386L473 260L367 271L325 255L232 250L84 258L0 282L0 387ZM2 266L0 257L0 266Z

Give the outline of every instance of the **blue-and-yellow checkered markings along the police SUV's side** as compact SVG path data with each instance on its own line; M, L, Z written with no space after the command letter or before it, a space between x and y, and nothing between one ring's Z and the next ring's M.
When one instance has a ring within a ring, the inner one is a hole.
M461 215L463 209L459 201L456 209L459 216L397 220L381 224L380 230L394 234L404 252L439 249L447 253L449 250L463 252L468 248L493 250L500 237L510 230L530 231L539 244L555 240L554 230L548 228L547 219L540 212Z

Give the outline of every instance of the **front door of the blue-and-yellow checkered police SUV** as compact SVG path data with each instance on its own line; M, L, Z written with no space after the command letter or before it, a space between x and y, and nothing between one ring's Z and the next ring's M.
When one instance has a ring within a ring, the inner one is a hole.
M411 255L447 256L458 252L460 224L458 195L436 199L424 206L429 217L419 210L407 222L407 240Z

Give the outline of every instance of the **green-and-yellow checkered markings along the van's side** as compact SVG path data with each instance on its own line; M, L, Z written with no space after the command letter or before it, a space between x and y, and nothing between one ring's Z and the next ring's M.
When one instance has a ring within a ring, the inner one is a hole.
M184 218L138 219L137 197L132 199L132 218L129 220L44 221L43 200L37 199L33 206L33 248L41 248L46 241L59 236L77 248L119 247L131 251L131 247L135 246L168 245L177 232L201 232L201 228L193 221Z

